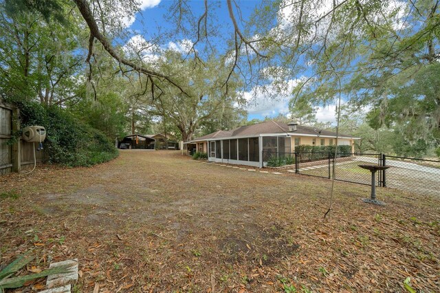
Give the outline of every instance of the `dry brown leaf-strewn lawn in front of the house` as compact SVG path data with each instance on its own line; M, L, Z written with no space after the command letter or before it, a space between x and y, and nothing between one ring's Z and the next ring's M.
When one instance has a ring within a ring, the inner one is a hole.
M78 258L74 292L404 292L440 287L440 199L122 151L0 177L0 263ZM24 274L21 271L20 274ZM28 284L21 292L41 288ZM18 291L17 291L18 292Z

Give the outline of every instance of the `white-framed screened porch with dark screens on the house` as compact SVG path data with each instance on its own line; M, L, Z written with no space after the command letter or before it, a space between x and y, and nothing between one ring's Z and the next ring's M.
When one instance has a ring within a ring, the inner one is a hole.
M208 160L226 164L266 166L270 158L291 154L291 138L267 135L208 140Z

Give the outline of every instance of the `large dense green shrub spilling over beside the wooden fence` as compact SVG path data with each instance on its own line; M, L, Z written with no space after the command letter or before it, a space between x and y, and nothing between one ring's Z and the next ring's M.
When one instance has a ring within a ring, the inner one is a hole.
M107 162L119 154L104 133L76 120L65 109L44 107L38 102L18 103L21 127L41 125L49 162L65 166L91 166ZM15 133L21 135L21 133Z

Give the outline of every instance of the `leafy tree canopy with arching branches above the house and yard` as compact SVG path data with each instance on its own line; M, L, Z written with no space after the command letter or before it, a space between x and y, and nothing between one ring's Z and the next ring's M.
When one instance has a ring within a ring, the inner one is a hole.
M168 2L174 27L144 39L126 29L135 0L5 0L2 95L62 107L92 99L131 131L154 116L189 139L240 122L243 91L270 98L299 80L289 116L300 122L315 123L317 107L341 91L345 111L368 112L369 127L398 131L415 149L438 146L439 0L261 1L248 19L236 1L199 4L201 14L188 1ZM216 27L219 9L227 34ZM184 50L164 50L164 40Z

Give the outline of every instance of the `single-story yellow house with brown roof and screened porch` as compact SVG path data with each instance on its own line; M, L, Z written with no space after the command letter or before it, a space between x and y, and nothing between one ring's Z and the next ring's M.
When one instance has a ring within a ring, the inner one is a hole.
M339 133L338 145L349 145L354 153L354 140L359 139ZM197 151L208 153L210 162L261 168L266 165L270 155L294 153L295 147L299 145L335 145L336 133L327 130L318 131L314 127L306 127L294 122L285 124L270 120L230 131L216 131L186 144L195 145Z

